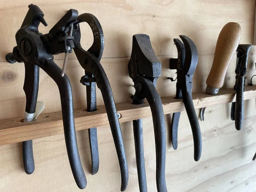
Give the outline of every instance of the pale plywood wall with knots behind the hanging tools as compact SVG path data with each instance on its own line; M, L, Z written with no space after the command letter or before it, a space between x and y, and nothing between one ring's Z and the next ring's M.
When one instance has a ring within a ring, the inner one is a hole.
M134 93L128 76L127 64L131 55L132 35L148 34L157 57L162 62L162 76L157 81L160 96L175 94L175 71L168 69L169 58L177 57L173 38L187 35L198 49L198 67L193 79L193 92L206 88L221 28L228 22L241 25L240 43L253 42L255 0L0 0L0 119L23 116L25 94L23 93L24 65L8 64L6 53L15 46L15 33L19 29L28 5L38 5L45 14L47 27L40 26L42 33L49 29L68 9L79 13L92 13L98 17L105 35L102 65L108 75L116 102L130 100ZM90 47L92 34L82 25L82 45ZM64 55L55 56L62 66ZM256 51L253 47L248 61L248 79L256 74ZM225 78L224 88L235 83L234 57ZM83 69L70 54L67 75L70 78L75 108L86 108L85 87L79 83ZM248 79L246 83L248 83ZM256 83L256 81L254 81ZM54 81L41 70L39 101L44 101L43 113L61 111L59 93ZM103 105L97 90L98 105ZM166 183L168 191L256 191L255 99L244 102L244 124L236 131L230 120L230 104L206 109L205 121L200 122L203 151L198 162L193 160L193 140L186 112L181 113L178 149L172 148L169 138L172 114L166 118L167 151ZM199 111L197 111L199 114ZM125 152L129 168L127 191L139 191L132 123L121 124ZM152 119L143 119L145 165L148 191L156 191L155 150ZM87 131L78 131L79 152L87 175L87 188L83 191L119 191L120 173L116 151L108 126L99 129L99 172L90 175L90 148ZM0 146L0 191L45 192L81 191L73 179L69 166L64 135L34 140L35 172L26 175L23 171L21 143Z

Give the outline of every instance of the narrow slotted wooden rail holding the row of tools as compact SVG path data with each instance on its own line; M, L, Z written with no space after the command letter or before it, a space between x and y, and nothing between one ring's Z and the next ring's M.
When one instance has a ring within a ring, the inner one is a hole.
M256 98L256 86L245 86L244 100ZM217 95L209 95L205 92L193 93L195 108L209 107L235 101L235 90L220 90ZM163 97L164 114L185 111L182 99L174 99L174 96ZM131 102L117 103L116 110L120 113L120 122L151 116L148 103L132 105ZM98 106L98 110L87 112L86 109L74 110L76 130L108 125L108 117L105 106ZM18 143L56 134L63 134L61 112L41 114L33 122L22 122L22 118L0 120L0 145Z

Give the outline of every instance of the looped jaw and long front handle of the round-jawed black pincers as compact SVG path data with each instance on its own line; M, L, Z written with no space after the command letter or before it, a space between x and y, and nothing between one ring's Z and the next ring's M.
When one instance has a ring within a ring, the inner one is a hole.
M75 48L74 52L76 57L84 68L86 76L90 76L90 82L96 82L97 87L101 90L102 97L105 103L113 140L116 146L116 153L119 159L119 166L121 171L121 191L125 191L128 185L128 165L125 156L125 149L122 140L121 128L116 112L116 105L113 98L111 86L108 81L108 77L99 62L102 57L104 47L104 36L102 27L100 26L97 18L91 14L85 13L79 15L78 22L74 24L73 35ZM81 32L79 23L87 22L93 31L93 45L85 51L80 44ZM84 82L87 85L88 82ZM89 84L88 84L89 85Z

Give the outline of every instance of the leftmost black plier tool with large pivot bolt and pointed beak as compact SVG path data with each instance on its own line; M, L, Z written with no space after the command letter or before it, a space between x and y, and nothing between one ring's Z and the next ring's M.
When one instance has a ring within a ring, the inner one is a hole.
M62 19L60 20L61 22L59 21L56 24L61 24L62 28L58 28L58 26L53 27L50 30L49 34L42 35L38 31L38 26L40 23L46 25L46 22L44 20L44 14L38 6L31 4L29 6L29 11L27 12L26 17L22 23L22 26L15 35L17 46L13 48L12 53L6 55L6 59L10 63L14 63L15 61L17 61L24 62L25 66L30 65L29 68L25 67L25 74L30 74L29 77L31 78L29 80L25 79L26 81L24 82L24 90L26 93L27 103L29 103L29 101L35 103L33 99L35 100L35 95L37 95L36 92L38 92L38 76L33 77L32 75L35 74L37 70L39 70L39 68L35 66L42 68L58 85L61 96L64 135L67 147L67 154L70 161L70 167L76 180L76 184L79 186L80 189L84 189L87 185L87 180L84 175L84 170L81 165L81 160L77 147L71 84L66 75L63 77L61 76L62 70L58 67L57 64L55 64L52 55L65 51L64 42L69 44L70 47L74 47L74 44L72 44L73 41L67 40L67 38L65 38L65 34L66 31L70 28L70 22L75 22L77 17L78 12L71 9L69 12L67 12L66 15L64 15L64 17L62 17ZM55 35L55 37L52 37L52 41L50 39L48 40L47 38L50 34ZM50 49L49 46L47 46L49 44L52 45ZM34 83L28 84L27 82L29 81L34 81ZM35 92L34 98L29 98L27 91L32 89L34 89ZM28 105L29 104L26 104L26 106ZM26 112L29 113L29 111ZM32 164L34 164L34 162L29 161L29 159L31 159L33 155L31 151L32 143L31 145L23 146L27 146L26 148L23 148L23 160L26 159L26 162L23 163L28 163L30 165L27 166L32 167Z

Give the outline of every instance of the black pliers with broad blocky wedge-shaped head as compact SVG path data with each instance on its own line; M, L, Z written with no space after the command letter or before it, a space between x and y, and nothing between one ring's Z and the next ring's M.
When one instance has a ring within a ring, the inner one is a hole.
M131 58L128 72L134 81L134 105L140 105L147 99L153 117L156 147L156 182L158 192L167 192L165 179L166 131L161 98L155 88L157 78L161 75L161 62L154 54L150 38L145 34L133 36ZM143 151L142 119L133 121L137 173L141 192L147 191Z

